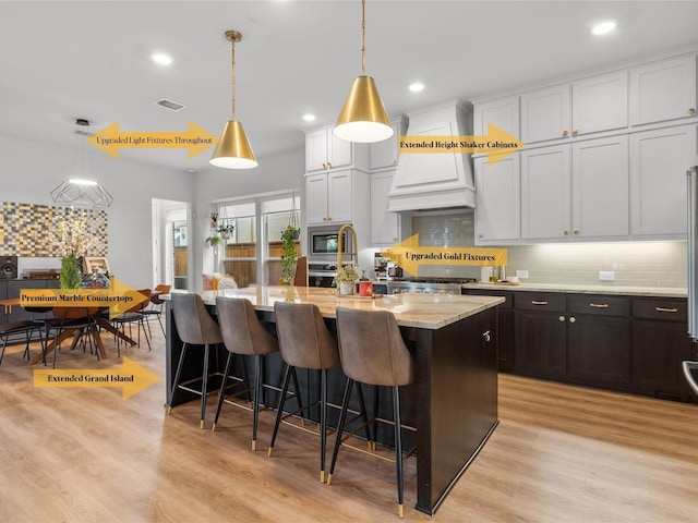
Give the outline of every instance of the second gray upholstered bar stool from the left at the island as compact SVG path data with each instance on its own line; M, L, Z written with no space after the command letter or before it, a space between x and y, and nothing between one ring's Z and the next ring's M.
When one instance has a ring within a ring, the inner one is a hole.
M228 360L222 382L220 385L220 396L216 408L213 430L216 429L220 409L222 408L228 375L234 354L254 356L254 387L252 398L252 450L257 447L257 422L260 417L260 392L262 390L262 358L267 354L278 352L279 345L272 335L265 329L260 318L257 318L252 302L243 297L216 297L216 309L218 312L218 325L222 342L228 349Z

